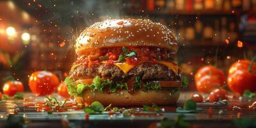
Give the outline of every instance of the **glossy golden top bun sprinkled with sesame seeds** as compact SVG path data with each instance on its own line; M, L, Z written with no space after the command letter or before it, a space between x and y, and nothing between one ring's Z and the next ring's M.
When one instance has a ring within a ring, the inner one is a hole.
M76 53L102 47L156 46L177 52L178 44L170 29L144 19L112 19L96 22L76 40Z

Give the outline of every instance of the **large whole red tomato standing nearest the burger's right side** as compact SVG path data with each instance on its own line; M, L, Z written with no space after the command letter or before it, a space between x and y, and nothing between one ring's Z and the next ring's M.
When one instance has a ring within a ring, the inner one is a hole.
M209 65L196 72L195 82L199 92L209 93L225 84L225 75L220 69Z

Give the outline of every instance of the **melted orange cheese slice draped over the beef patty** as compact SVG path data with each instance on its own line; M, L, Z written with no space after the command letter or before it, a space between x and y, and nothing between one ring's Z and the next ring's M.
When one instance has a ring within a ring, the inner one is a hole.
M144 63L145 61L141 61L140 63ZM102 62L104 63L104 61ZM138 65L140 64L138 63ZM165 65L166 67L168 67L170 70L172 70L175 74L177 74L179 72L179 66L174 65L171 62L168 61L156 61L154 63L161 63L162 65ZM116 65L117 67L119 67L125 74L127 74L132 68L136 67L136 65L129 65L128 63L113 63L113 65Z

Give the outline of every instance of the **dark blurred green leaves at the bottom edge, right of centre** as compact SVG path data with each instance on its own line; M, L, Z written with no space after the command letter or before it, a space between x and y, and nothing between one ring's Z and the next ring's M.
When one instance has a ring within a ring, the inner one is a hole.
M189 123L184 121L184 115L179 115L175 121L168 120L167 118L163 118L161 120L161 128L170 128L170 127L180 127L186 128L189 127Z

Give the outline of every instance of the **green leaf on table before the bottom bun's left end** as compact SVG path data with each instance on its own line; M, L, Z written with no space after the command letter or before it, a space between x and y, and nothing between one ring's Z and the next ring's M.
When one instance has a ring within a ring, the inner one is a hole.
M104 106L99 101L94 101L92 104L84 108L84 113L102 113L104 111Z

